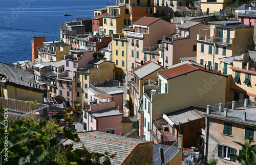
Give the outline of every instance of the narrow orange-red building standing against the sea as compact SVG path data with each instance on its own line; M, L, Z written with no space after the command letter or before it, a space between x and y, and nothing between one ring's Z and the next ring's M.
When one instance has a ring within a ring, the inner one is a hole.
M31 45L32 45L32 63L35 64L37 63L35 61L36 58L38 58L38 51L37 51L37 47L38 46L44 46L44 43L46 42L46 37L33 37L33 40L31 41Z

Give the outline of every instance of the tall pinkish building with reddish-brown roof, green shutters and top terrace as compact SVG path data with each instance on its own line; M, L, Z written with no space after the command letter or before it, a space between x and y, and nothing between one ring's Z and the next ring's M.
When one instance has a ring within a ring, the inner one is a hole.
M144 54L150 45L160 43L166 34L175 33L175 24L161 18L142 17L133 22L133 32L127 32L127 70L141 64L141 60L152 60L157 54ZM145 57L146 56L146 57ZM159 55L157 55L159 58Z

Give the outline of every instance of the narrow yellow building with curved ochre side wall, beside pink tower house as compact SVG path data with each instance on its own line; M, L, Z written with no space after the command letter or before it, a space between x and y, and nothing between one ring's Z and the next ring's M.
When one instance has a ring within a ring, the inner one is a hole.
M91 101L88 98L89 83L93 85L101 85L107 79L115 78L115 64L109 61L95 59L89 62L88 65L77 69L76 78L73 83L73 101L86 102ZM77 95L79 92L79 95ZM80 94L81 93L81 94Z

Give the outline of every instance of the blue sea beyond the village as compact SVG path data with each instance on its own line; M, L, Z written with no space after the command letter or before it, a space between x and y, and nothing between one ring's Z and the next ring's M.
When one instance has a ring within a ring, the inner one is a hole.
M31 40L46 36L46 41L60 39L59 27L65 21L94 16L94 10L114 0L1 0L0 62L32 60ZM71 16L63 16L63 14Z

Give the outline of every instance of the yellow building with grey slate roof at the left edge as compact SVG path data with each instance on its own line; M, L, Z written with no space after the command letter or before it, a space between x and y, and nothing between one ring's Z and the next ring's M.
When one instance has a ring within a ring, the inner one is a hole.
M36 84L33 73L0 62L0 97L44 103L47 89Z

